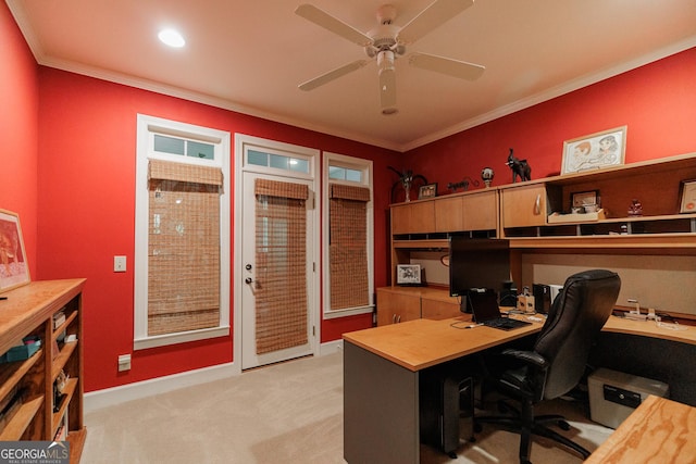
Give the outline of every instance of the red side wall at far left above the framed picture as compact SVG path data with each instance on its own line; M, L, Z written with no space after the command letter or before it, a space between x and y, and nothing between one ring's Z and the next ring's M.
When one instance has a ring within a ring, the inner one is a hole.
M34 57L0 4L0 209L20 215L29 274L36 275L38 76Z

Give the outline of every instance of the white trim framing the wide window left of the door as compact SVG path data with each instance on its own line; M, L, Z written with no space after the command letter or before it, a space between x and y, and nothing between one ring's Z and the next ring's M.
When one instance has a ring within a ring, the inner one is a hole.
M166 155L150 150L154 135L183 137L195 141L215 145L214 160L191 156ZM148 163L150 160L165 160L178 163L220 167L223 187L220 195L220 323L217 327L176 334L148 336ZM229 335L229 272L231 272L231 135L227 131L137 115L136 148L136 215L134 258L134 350L184 343Z

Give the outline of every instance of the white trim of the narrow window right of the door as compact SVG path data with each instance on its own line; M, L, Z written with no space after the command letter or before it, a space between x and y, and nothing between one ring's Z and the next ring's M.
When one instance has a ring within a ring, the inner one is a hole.
M340 166L351 170L361 171L363 173L362 183L358 184L350 180L332 179L328 177L328 168L331 166ZM369 314L374 311L374 191L373 191L373 176L372 176L372 161L362 158L355 158L339 153L323 152L322 160L322 215L325 218L322 221L322 262L323 266L323 301L322 301L322 317L323 319L333 319L337 317L355 316L358 314ZM361 186L370 189L370 201L366 203L366 243L368 251L368 285L369 285L369 298L370 302L365 306L347 308L340 310L331 309L331 255L330 255L330 184L344 184L350 186Z

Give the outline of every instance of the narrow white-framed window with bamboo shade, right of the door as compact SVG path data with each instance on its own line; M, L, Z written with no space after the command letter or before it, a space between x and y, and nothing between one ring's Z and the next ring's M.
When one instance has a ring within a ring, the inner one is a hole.
M372 162L324 153L324 318L371 313Z

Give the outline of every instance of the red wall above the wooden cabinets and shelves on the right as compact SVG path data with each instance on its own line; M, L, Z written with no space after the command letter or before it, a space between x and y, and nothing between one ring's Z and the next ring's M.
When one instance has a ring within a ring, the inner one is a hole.
M533 179L558 174L564 140L624 125L626 163L693 152L695 76L696 48L411 150L408 161L445 195L465 176L483 188L485 166L494 186L511 183L510 148Z

